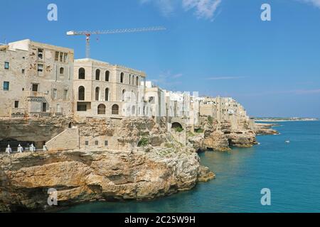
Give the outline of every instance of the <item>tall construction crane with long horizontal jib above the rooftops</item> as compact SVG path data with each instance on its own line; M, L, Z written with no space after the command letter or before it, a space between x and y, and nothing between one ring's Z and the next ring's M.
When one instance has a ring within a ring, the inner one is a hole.
M68 31L67 35L85 35L85 56L90 57L90 36L98 34L117 34L117 33L139 33L145 31L163 31L164 27L150 27L150 28L128 28L128 29L114 29L106 31Z

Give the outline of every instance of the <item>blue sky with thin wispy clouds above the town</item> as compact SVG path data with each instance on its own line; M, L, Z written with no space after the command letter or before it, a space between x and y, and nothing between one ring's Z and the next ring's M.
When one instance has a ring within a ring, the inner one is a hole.
M143 70L163 89L232 96L250 116L320 117L320 0L0 1L0 43L30 38L83 58L85 37L67 31L164 26L92 35L90 57Z

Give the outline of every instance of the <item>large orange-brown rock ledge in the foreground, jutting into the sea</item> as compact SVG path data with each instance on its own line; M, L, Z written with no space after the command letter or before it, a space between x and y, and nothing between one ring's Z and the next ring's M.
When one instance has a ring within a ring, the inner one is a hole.
M191 189L214 174L194 152L149 148L1 155L0 177L0 211L43 211L53 209L47 204L50 188L57 189L63 208L84 201L154 199Z

